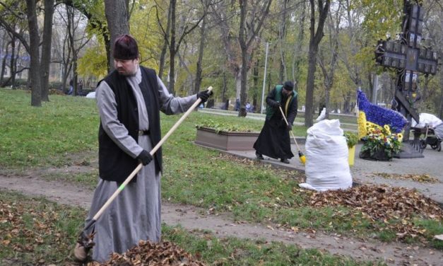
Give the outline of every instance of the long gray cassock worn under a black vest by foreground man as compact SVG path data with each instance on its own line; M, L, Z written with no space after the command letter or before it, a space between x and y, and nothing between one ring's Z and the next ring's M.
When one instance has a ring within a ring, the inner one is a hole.
M138 86L141 83L141 70L138 68L134 76L127 76L126 79L136 96L139 129L147 130L148 113ZM157 80L160 110L166 115L186 112L196 101L195 95L175 98L158 77ZM143 149L150 151L153 148L149 135L138 136L138 143L129 136L126 127L117 119L114 93L105 81L96 89L95 97L102 127L120 149L136 158ZM155 174L155 163L151 161L141 168L137 176L137 182L126 185L95 223L93 260L105 262L110 259L112 252L124 253L140 240L160 241L161 173ZM97 214L117 188L117 182L99 179L85 224Z

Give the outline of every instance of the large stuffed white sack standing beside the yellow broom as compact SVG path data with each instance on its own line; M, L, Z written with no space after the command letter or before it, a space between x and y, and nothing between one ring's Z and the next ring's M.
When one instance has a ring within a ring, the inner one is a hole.
M322 120L307 129L306 183L311 190L326 191L352 187L348 144L338 120Z

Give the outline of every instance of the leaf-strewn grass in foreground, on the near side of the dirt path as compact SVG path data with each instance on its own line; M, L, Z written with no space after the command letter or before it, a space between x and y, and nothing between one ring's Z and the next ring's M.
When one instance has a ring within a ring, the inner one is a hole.
M71 252L86 211L41 197L0 191L0 265L71 265ZM211 232L188 232L162 226L170 241L208 265L383 265L356 262L319 250L263 240L217 238Z

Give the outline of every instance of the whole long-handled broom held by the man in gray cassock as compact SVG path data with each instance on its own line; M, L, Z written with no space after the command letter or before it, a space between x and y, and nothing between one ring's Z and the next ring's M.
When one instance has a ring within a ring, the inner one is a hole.
M208 88L208 93L211 93L212 91L212 86L209 86ZM180 124L182 124L182 122L184 121L184 119L186 117L189 116L189 114L197 107L199 106L199 104L201 103L201 98L198 98L196 100L196 102L189 108L189 110L187 110L187 112L184 113L184 115L182 115L182 117L180 117L180 119L175 123L175 125L173 125L171 127L171 129L165 134L165 137L163 137L162 139L160 139L160 141L158 141L158 144L155 145L155 147L149 152L149 154L151 156L153 156L155 154L155 151L157 151L158 149L160 149L160 146L163 145L163 143L166 141L167 138L170 137L170 135L172 134L172 132L175 132L175 129L177 129L177 127L179 127ZM114 192L114 194L112 194L112 196L107 199L107 201L105 202L105 204L103 204L103 207L101 207L97 214L95 214L93 216L93 219L91 219L88 224L86 224L85 228L83 229L83 231L81 232L80 236L78 236L78 245L80 245L80 248L83 250L78 250L78 254L76 253L76 251L74 250L74 256L76 257L77 260L81 260L84 261L86 260L86 257L88 255L88 252L91 248L93 248L93 245L95 245L95 243L93 242L93 237L95 233L92 233L90 235L87 235L85 233L85 231L87 231L88 229L93 228L93 226L95 226L95 222L100 218L100 216L102 215L103 212L105 212L105 209L107 209L107 207L110 206L110 204L112 203L112 201L114 201L114 199L117 197L117 195L120 194L120 192L122 192L122 190L124 190L124 187L126 187L126 185L128 185L128 183L132 180L132 178L134 178L134 176L138 173L138 171L141 170L141 168L143 167L142 163L139 163L138 166L132 171L132 173L126 178L126 180L124 180L124 182L122 183L122 185L120 185L118 187L118 189ZM84 258L83 258L84 257Z

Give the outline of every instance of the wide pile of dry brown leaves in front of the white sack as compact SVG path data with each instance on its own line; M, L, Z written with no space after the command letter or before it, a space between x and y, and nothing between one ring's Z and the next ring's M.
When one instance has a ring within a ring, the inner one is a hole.
M413 223L413 216L425 219L443 219L443 210L437 202L415 190L382 185L362 185L348 190L314 192L309 199L316 207L343 205L352 207L372 221L384 223L381 230L397 231L398 238L425 233ZM399 222L396 222L399 221Z

